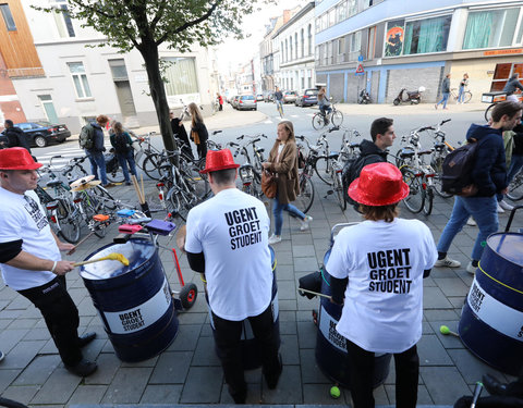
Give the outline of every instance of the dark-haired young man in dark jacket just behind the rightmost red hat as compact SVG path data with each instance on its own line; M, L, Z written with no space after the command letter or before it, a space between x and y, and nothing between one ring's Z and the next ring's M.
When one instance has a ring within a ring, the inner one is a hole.
M360 157L343 170L343 195L348 202L354 205L356 211L360 205L349 197L349 185L360 177L360 173L365 165L387 161L387 148L391 147L396 139L393 123L394 121L389 118L375 120L370 125L373 141L364 139L360 144Z

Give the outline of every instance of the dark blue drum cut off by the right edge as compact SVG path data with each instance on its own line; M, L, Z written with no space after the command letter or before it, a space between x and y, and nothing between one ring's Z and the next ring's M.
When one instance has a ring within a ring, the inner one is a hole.
M523 234L498 233L476 270L459 334L477 357L508 374L523 364Z

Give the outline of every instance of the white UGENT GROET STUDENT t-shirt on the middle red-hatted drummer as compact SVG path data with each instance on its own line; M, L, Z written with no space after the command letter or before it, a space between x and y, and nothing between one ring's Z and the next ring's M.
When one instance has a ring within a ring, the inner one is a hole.
M270 220L257 198L227 188L188 212L185 250L204 252L209 304L218 317L241 321L270 304Z

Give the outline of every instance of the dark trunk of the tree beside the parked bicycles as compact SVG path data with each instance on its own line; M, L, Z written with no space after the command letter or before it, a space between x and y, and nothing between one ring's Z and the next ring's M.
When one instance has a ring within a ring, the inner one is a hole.
M166 88L161 79L158 47L154 41L145 42L143 39L139 52L145 61L145 70L149 78L150 96L155 103L158 123L160 125L160 134L163 139L163 146L167 150L172 151L178 148L174 138L172 137L171 122L169 120L169 104L167 102ZM175 158L178 164L178 157Z

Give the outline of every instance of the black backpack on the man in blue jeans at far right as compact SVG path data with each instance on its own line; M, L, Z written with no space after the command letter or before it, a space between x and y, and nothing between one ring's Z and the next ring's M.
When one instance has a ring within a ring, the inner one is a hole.
M472 170L475 164L477 141L471 139L466 145L452 150L443 160L441 189L457 196L463 188L473 184Z

